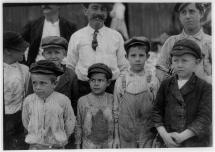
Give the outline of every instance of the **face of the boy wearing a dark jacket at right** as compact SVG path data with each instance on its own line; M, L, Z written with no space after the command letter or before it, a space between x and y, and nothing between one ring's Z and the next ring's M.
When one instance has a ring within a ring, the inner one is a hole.
M192 73L195 72L199 62L200 60L191 54L172 57L174 72L176 72L180 79L189 79Z

